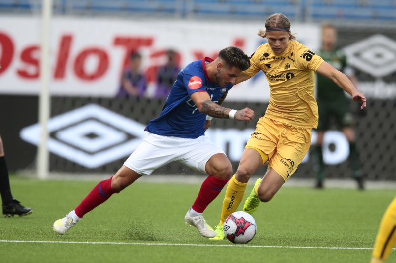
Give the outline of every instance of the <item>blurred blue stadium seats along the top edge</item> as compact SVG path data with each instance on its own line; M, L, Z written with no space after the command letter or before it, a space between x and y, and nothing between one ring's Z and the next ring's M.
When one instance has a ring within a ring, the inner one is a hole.
M29 13L38 0L0 0L1 13ZM154 15L262 19L282 12L294 21L346 20L368 23L396 20L395 0L54 0L55 14Z

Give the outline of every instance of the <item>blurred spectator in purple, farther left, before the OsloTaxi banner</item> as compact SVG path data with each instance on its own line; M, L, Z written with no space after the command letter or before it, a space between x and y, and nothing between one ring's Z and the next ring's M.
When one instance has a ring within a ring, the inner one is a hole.
M122 75L117 97L143 97L145 95L147 82L141 73L141 64L142 56L138 52L131 53L129 67Z

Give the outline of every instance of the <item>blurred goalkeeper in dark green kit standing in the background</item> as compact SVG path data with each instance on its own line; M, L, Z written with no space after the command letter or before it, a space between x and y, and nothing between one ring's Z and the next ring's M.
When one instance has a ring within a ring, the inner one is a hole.
M357 87L357 79L353 70L347 66L347 57L341 49L336 47L337 30L333 25L322 26L322 46L318 55L337 70L344 72ZM361 173L359 152L356 149L355 132L353 126L355 120L351 112L350 100L345 92L330 79L317 74L317 103L319 111L319 123L317 128L316 155L316 188L323 188L324 162L322 154L323 135L331 128L333 120L349 142L349 164L352 169L352 177L357 181L358 189L364 189L364 180ZM333 87L334 86L334 87Z

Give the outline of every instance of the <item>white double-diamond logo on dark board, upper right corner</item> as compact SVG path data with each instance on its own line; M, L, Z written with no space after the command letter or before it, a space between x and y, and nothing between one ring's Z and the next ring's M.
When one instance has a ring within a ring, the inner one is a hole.
M344 47L348 63L373 77L396 71L396 41L381 34Z

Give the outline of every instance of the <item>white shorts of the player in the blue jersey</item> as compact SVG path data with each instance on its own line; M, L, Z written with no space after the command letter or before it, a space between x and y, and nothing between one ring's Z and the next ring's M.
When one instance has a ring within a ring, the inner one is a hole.
M207 136L188 139L148 133L124 165L138 174L151 175L157 168L178 161L206 173L207 161L217 153L225 154Z

